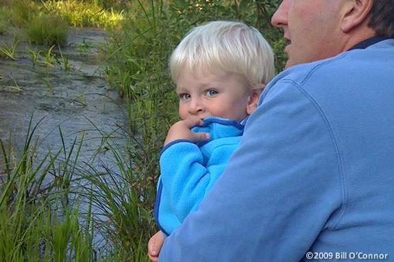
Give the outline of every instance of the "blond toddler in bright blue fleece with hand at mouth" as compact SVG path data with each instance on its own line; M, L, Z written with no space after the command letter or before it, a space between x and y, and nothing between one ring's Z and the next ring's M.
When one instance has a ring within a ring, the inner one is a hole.
M274 75L267 41L238 22L195 27L173 51L169 66L182 120L169 129L160 156L154 216L167 236L198 209L223 173Z

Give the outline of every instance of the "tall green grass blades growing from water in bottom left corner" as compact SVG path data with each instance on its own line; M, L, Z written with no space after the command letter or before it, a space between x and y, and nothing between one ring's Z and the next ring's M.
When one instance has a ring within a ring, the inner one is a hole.
M72 169L59 165L56 170L56 160L65 149L49 151L36 161L38 140L34 142L33 133L37 126L29 125L19 161L10 144L0 140L6 176L0 181L0 261L65 261L65 256L88 261L92 252L88 224L79 226L78 209L64 205ZM60 175L49 178L53 174ZM46 184L48 179L51 182Z

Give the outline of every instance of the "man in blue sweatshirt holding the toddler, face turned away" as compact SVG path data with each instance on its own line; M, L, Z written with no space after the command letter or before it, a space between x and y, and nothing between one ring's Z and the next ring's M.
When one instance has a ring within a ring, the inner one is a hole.
M282 1L288 70L160 261L394 261L393 14L393 0Z

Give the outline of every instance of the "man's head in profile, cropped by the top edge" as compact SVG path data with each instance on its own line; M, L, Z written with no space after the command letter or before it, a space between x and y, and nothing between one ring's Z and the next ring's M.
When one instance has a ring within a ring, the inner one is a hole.
M288 40L286 68L338 55L394 34L393 0L284 0L272 18Z

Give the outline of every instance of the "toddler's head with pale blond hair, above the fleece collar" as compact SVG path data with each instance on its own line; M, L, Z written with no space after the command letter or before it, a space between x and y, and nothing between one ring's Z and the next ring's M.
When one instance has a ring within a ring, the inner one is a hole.
M238 121L256 108L273 78L273 52L254 27L216 21L193 28L170 58L180 116Z

